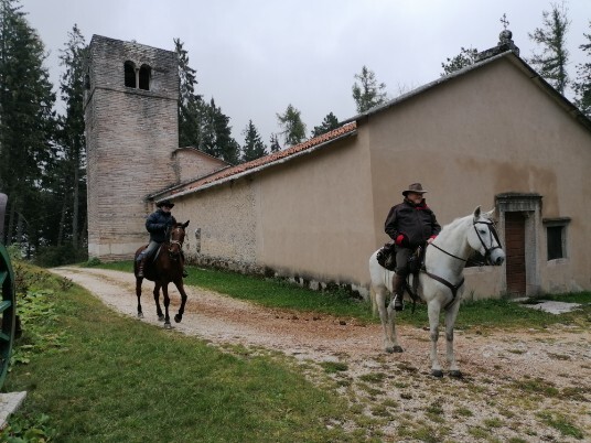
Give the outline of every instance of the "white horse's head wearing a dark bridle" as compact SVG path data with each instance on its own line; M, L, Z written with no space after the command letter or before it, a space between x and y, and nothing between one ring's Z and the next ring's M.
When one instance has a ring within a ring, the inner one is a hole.
M493 222L494 209L482 213L481 207L474 210L472 226L474 229L468 235L471 248L484 256L490 264L501 266L505 261L505 251L501 246L496 226Z

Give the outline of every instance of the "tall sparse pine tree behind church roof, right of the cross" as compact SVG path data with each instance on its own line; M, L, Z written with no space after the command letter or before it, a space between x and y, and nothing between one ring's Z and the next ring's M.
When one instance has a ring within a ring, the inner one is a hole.
M541 53L533 54L528 62L538 68L540 75L560 94L565 94L570 79L567 72L569 52L567 31L570 26L565 3L552 3L550 12L544 11L542 28L528 33L529 39L541 45Z

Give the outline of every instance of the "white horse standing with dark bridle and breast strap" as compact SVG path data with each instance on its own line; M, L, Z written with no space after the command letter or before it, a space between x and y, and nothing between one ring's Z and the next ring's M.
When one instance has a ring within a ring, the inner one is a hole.
M431 337L431 374L442 377L443 372L437 357L439 338L439 313L445 310L447 357L450 376L461 377L462 372L453 354L453 325L463 293L463 270L473 251L483 255L490 264L499 266L505 260L492 215L481 213L480 206L474 214L458 218L443 227L437 238L427 247L425 270L419 273L418 295L427 303ZM393 271L383 268L377 261L378 251L369 258L372 277L372 302L379 311L384 327L384 347L387 353L401 353L398 345L395 311L391 301L386 307L388 293L393 292Z

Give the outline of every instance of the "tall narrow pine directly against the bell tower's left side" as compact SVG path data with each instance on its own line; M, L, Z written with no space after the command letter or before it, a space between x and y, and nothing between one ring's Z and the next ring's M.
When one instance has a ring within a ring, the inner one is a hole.
M66 114L61 117L62 130L60 144L62 153L60 163L66 187L63 190L63 210L72 209L72 231L69 240L74 248L80 238L79 223L86 219L86 140L84 137L84 87L87 46L78 26L74 24L68 33L69 41L61 52L61 64L65 67L60 89L62 100L66 104ZM71 197L66 204L66 197ZM62 226L61 226L62 227ZM86 236L84 236L86 237Z

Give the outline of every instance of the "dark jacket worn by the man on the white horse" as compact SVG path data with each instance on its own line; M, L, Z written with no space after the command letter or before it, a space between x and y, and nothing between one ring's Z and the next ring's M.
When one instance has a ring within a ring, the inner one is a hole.
M425 199L415 205L405 198L390 209L384 229L397 246L413 249L437 236L441 226Z

